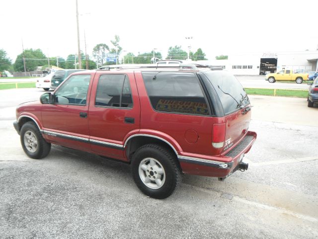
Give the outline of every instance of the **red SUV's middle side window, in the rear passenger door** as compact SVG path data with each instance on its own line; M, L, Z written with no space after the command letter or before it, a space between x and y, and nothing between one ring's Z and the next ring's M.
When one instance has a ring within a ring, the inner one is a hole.
M126 75L101 75L97 85L95 106L132 108L133 100Z

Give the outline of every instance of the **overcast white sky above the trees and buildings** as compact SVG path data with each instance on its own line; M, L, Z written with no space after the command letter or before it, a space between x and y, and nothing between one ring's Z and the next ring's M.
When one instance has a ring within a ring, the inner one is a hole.
M317 0L78 0L80 49L119 45L135 55L181 45L217 55L318 48ZM76 0L1 0L0 49L14 62L24 49L77 53ZM186 37L192 37L187 40Z

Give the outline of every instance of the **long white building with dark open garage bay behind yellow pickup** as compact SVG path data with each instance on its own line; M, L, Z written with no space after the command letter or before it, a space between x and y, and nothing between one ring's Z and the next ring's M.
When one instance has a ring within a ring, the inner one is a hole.
M235 75L260 75L283 69L298 72L318 71L318 50L298 52L263 52L229 55L227 60L200 61L220 66Z

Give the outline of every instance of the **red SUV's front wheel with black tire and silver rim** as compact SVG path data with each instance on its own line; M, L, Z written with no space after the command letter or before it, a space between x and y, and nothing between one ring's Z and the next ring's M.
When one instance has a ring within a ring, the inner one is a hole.
M51 143L45 141L39 128L33 122L22 125L20 140L24 152L30 158L44 158L51 150Z

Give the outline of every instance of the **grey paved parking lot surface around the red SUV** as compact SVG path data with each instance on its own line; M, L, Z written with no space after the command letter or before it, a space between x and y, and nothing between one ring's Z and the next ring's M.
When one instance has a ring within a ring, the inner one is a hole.
M250 96L249 169L225 182L184 175L156 200L128 164L56 145L28 158L14 108L42 93L0 91L0 238L318 238L318 108L306 99Z

